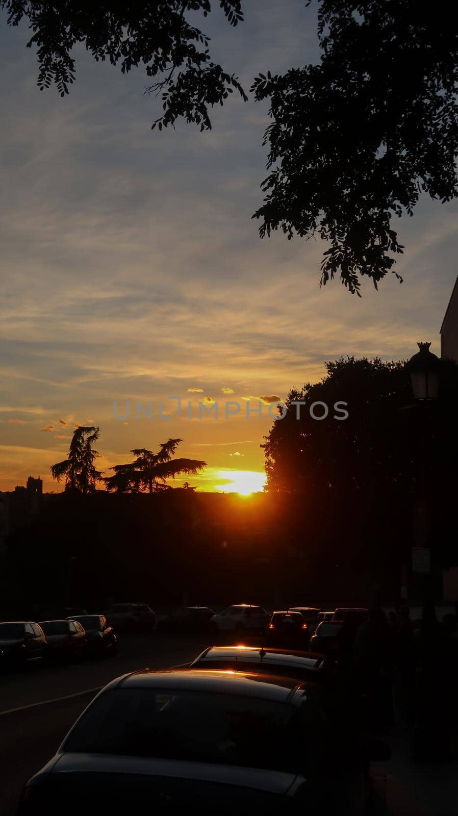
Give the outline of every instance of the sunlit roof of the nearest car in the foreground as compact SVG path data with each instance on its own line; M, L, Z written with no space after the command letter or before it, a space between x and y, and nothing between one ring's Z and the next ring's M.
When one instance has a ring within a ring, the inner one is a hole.
M105 686L127 689L167 689L181 691L207 691L254 697L278 703L291 702L294 692L307 684L290 677L262 675L256 672L221 672L210 669L171 669L164 672L140 672L118 677Z

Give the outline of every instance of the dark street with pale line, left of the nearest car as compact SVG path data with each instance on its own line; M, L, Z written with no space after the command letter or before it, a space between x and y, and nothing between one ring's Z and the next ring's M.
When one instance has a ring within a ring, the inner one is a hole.
M27 780L56 752L100 686L136 669L187 663L206 636L167 638L158 632L119 639L119 654L61 667L31 664L0 676L0 813L13 816ZM75 696L73 696L75 695Z

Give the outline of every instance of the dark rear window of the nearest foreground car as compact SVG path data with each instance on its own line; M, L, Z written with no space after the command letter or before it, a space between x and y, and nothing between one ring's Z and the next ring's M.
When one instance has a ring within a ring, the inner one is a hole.
M297 711L229 694L115 689L87 710L64 751L292 770Z

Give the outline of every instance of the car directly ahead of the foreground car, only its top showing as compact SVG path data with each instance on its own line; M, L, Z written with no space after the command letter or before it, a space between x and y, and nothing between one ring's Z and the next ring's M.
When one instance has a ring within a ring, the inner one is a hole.
M326 675L322 654L254 646L208 646L189 668L256 672L321 682Z

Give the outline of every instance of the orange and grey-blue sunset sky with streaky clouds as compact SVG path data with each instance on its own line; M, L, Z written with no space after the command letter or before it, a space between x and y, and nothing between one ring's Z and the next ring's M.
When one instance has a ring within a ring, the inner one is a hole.
M318 59L315 11L303 0L244 7L237 29L218 7L202 27L246 88L260 71ZM75 49L77 80L60 99L54 87L38 91L28 38L24 24L2 24L0 490L29 474L60 490L49 468L75 424L100 425L105 471L131 448L182 437L177 455L209 466L189 483L224 490L230 472L243 480L239 472L263 469L272 420L265 405L247 421L247 397L286 397L340 355L411 357L417 340L440 353L456 202L424 198L412 219L396 220L401 286L389 275L378 293L366 282L362 299L338 281L320 290L327 247L279 234L261 242L251 220L266 107L233 94L211 132L184 122L152 132L159 103L143 95L142 69L124 77ZM171 395L184 402L180 416ZM219 419L198 419L206 397ZM225 400L239 401L240 414L225 420ZM116 419L113 403L122 415L126 401L130 415ZM136 401L153 403L153 419L136 419ZM169 419L158 418L159 401Z

